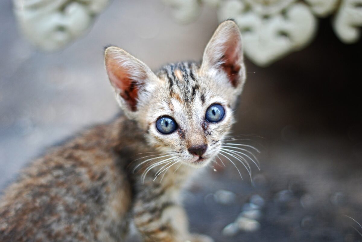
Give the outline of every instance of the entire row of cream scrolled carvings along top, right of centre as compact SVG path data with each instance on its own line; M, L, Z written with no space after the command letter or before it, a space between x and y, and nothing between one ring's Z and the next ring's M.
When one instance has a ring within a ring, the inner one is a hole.
M201 2L216 6L219 21L228 18L236 21L243 34L245 54L261 66L305 47L313 39L317 17L337 12L333 27L345 43L358 41L358 27L362 26L362 0L163 1L173 3L177 19L182 22L190 22L198 16Z

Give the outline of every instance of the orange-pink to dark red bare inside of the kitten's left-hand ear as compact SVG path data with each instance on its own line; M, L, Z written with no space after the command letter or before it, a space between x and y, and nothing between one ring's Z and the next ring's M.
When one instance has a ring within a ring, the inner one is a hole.
M119 95L127 102L132 111L137 111L139 88L137 81L129 75L129 70L109 63L107 66L111 84L120 91Z

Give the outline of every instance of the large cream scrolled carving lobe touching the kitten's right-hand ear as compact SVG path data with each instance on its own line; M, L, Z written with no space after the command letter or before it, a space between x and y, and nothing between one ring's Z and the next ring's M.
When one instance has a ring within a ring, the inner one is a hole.
M254 11L254 8L261 9L260 5L250 8L236 0L228 1L220 8L222 19L232 17L239 25L245 54L261 66L304 47L315 32L315 17L305 4L281 5L281 1L274 2L269 12L266 9ZM284 14L280 14L282 7L288 5Z

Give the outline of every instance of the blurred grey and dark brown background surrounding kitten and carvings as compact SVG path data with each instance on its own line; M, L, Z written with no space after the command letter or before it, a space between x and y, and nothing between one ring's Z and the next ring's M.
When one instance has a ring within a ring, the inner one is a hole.
M159 0L113 1L80 39L42 52L0 1L0 188L31 159L119 108L103 63L115 44L152 69L199 60L218 26L206 5L190 24ZM185 194L192 232L215 241L362 241L362 42L347 45L331 18L313 41L268 67L246 60L233 133L254 134L252 181L216 166ZM241 165L239 167L241 169ZM357 229L358 231L356 231Z

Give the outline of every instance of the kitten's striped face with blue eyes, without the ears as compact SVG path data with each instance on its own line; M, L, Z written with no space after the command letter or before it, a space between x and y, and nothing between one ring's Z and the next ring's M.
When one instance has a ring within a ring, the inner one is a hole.
M141 110L144 119L138 118L147 130L148 142L159 150L175 152L180 162L206 165L230 131L235 90L217 81L226 75L202 71L191 63L167 65L157 76L159 84Z

